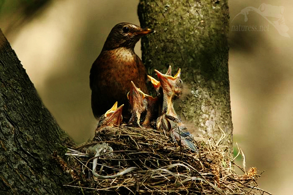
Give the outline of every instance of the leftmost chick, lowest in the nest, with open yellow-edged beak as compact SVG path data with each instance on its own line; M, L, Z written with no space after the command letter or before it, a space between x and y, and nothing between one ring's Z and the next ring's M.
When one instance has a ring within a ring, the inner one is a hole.
M96 132L104 127L118 127L120 125L122 122L122 110L124 104L119 108L117 108L117 104L118 102L115 102L112 108L107 110L106 113L101 116Z

